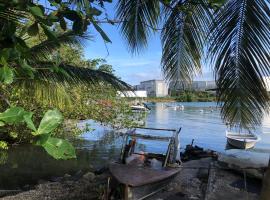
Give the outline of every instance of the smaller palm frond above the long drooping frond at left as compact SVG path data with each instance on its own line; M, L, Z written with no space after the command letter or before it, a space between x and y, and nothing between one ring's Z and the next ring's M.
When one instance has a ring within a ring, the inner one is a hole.
M82 46L85 40L92 39L87 34L78 35L73 31L67 31L60 33L56 36L56 40L47 39L29 49L30 59L34 60L46 60L48 55L59 49L61 44L79 45ZM31 60L30 60L31 61Z

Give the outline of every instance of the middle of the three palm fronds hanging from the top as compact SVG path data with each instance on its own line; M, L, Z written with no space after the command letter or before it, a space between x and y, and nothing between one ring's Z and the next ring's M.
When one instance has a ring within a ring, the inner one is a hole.
M174 83L190 82L200 72L206 29L210 23L210 13L202 5L182 5L192 10L192 14L179 9L165 8L165 24L161 33L162 68L165 78Z

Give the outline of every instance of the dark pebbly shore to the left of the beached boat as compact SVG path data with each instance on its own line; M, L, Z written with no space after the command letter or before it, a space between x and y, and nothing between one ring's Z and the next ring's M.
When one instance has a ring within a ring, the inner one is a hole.
M29 191L12 191L6 193L1 200L97 200L102 199L108 173L96 175L93 172L76 174L71 176L66 174L58 177L55 181L40 181ZM8 191L6 191L8 192ZM1 193L0 193L1 194Z

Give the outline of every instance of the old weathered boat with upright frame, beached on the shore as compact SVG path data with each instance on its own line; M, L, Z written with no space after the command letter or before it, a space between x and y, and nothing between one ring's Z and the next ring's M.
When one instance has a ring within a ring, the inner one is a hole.
M138 130L141 129L154 132L169 131L172 132L172 136L164 137L138 133ZM180 130L181 128L179 131L174 129L135 128L126 133L126 142L123 145L119 162L112 163L109 166L112 175L111 185L118 188L115 189L116 191L122 191L120 194L122 199L143 200L150 197L165 188L180 172L180 145L178 140ZM140 140L167 142L167 151L165 154L136 152L138 149L136 144Z

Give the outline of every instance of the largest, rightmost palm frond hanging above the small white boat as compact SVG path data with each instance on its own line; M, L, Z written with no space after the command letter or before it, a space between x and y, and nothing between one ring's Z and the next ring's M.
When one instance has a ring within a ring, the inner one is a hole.
M228 0L215 14L209 57L225 121L252 127L269 108L263 76L270 72L269 0Z

